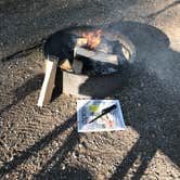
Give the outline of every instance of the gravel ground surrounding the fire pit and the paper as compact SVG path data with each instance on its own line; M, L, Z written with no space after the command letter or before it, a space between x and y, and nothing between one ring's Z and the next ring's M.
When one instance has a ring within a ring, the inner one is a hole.
M179 1L73 2L0 1L0 178L180 179ZM22 50L66 26L100 22L136 46L128 85L104 97L120 101L127 129L78 133L76 98L36 105L44 57L41 47Z

